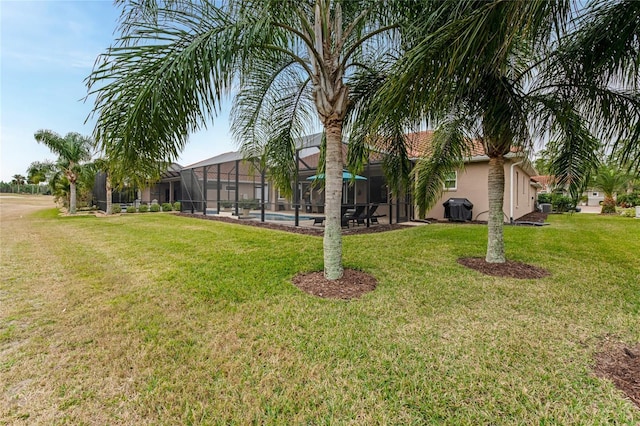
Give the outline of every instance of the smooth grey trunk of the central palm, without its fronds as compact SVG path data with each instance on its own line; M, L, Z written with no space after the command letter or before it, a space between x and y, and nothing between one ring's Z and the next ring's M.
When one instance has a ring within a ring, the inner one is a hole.
M324 276L342 277L342 123L325 126L327 134L325 164Z

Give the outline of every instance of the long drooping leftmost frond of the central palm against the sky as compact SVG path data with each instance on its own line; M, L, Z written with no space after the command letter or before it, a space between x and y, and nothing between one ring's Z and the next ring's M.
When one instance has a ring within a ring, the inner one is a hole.
M226 15L207 2L171 6L183 4L155 9L152 23L144 14L140 20L126 15L132 19L124 24L127 32L87 79L96 95L95 138L129 169L175 160L188 133L215 115L230 86L234 27Z

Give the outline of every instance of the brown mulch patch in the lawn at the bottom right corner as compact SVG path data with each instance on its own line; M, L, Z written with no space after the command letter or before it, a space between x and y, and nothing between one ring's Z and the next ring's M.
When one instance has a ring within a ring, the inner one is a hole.
M595 361L596 376L611 380L640 408L640 343L627 346L607 339Z

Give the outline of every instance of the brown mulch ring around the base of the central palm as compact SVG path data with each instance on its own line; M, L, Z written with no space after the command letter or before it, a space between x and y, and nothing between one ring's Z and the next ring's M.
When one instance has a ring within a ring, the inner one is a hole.
M293 284L300 290L325 299L357 299L375 290L378 282L366 272L345 269L339 280L329 281L322 271L298 274Z

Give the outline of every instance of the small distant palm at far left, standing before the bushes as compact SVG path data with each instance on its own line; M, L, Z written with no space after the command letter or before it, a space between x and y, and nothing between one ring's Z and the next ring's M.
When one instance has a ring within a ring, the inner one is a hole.
M56 167L62 172L69 184L69 213L76 213L76 182L81 173L82 163L91 159L91 138L79 133L67 133L61 137L51 130L38 130L34 135L36 141L46 145L53 153L58 154ZM60 182L60 178L55 179ZM52 185L52 190L57 185Z

